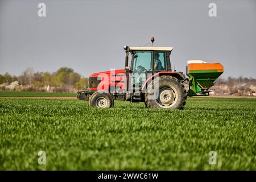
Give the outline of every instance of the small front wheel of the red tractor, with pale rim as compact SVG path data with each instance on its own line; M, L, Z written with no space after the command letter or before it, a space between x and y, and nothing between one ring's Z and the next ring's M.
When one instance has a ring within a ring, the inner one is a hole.
M109 93L100 93L97 91L90 96L89 105L92 107L109 108L114 106L114 100Z

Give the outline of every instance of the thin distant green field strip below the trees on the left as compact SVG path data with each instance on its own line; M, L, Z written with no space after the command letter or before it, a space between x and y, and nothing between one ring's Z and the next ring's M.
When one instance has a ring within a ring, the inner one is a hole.
M75 97L76 95L76 93L17 92L0 90L0 97Z

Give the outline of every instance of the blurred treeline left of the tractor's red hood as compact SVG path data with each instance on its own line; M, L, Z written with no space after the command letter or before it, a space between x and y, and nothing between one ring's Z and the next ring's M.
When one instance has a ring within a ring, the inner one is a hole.
M88 78L82 77L72 68L62 67L56 72L34 72L27 68L20 76L0 74L1 90L75 92L88 86Z

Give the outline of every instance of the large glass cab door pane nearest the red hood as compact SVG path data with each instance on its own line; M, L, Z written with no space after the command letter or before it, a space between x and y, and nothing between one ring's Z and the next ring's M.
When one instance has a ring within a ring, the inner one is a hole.
M133 83L141 86L147 80L148 71L152 71L151 51L135 51L133 60Z

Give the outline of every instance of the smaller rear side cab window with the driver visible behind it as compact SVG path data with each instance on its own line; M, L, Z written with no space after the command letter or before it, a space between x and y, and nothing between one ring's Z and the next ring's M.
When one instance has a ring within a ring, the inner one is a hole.
M154 70L167 71L166 56L164 52L154 52Z

